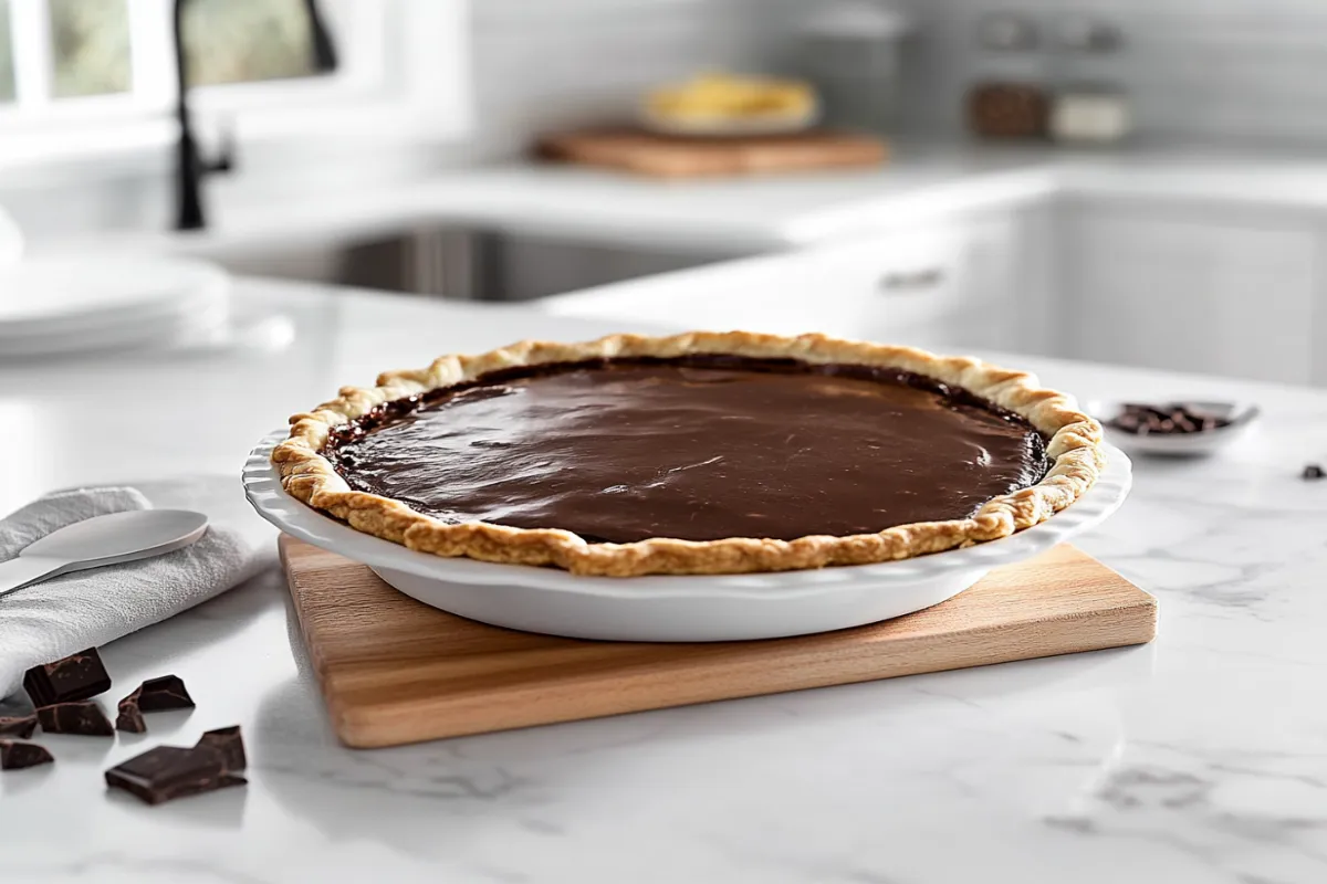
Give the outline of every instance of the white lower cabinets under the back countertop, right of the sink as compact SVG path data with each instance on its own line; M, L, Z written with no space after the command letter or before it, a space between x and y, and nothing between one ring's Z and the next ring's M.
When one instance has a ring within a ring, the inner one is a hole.
M1308 213L1083 196L540 306L624 330L824 331L1327 386L1324 244Z

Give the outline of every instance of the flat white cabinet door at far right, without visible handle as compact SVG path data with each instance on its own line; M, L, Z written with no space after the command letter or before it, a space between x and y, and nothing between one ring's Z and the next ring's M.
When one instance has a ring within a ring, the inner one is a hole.
M1308 383L1316 236L1306 225L1079 207L1066 355Z

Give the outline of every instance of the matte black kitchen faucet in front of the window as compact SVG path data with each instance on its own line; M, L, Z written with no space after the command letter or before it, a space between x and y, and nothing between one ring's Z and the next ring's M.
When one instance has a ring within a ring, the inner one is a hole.
M188 0L175 0L171 17L171 36L175 41L175 119L179 121L179 143L175 154L178 197L175 229L196 231L207 225L200 193L203 178L235 168L235 143L227 133L215 159L204 159L198 150L198 139L194 137L194 123L188 113L188 52L184 48L183 24L186 3ZM309 17L313 69L320 74L336 70L336 48L322 16L318 15L317 0L304 0L304 5Z

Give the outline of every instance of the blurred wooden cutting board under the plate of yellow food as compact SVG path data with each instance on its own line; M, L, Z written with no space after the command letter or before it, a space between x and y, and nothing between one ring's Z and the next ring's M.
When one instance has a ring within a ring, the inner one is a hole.
M682 138L629 129L561 133L540 139L545 159L649 175L707 178L878 166L885 142L872 135L811 131L796 135Z

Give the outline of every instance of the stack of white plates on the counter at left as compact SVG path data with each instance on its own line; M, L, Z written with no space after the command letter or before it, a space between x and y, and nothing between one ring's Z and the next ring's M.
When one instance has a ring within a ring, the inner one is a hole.
M228 310L230 277L202 261L23 260L0 266L0 358L204 343Z

